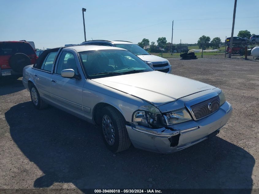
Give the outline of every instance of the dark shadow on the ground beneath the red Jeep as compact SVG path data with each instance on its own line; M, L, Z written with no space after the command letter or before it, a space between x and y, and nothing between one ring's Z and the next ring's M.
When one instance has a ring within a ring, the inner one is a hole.
M21 78L1 78L0 80L0 96L19 92L25 89Z

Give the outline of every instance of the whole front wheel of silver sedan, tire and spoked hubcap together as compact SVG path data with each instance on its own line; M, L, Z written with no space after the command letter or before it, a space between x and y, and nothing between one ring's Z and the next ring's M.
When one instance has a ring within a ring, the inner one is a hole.
M100 116L100 128L107 148L112 152L127 150L131 141L122 114L116 108L106 106Z

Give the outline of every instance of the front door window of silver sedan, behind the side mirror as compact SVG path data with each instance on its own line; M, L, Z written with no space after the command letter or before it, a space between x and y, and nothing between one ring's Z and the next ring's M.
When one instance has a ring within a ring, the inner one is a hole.
M64 69L73 69L75 71L75 75L79 74L74 54L69 51L63 51L60 55L56 74L60 75L61 71Z

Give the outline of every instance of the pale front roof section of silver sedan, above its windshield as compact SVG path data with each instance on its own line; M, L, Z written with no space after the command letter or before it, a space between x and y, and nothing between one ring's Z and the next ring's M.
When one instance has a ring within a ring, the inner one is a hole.
M74 49L77 52L83 52L83 51L96 51L96 50L125 50L124 48L119 47L107 47L107 46L97 46L97 45L75 45L75 46L68 46L65 48L71 48Z

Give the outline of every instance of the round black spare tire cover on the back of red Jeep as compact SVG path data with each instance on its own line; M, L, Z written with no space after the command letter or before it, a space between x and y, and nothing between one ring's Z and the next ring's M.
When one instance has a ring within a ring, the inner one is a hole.
M21 73L25 66L31 65L31 59L23 53L16 53L10 57L9 65L14 71Z

